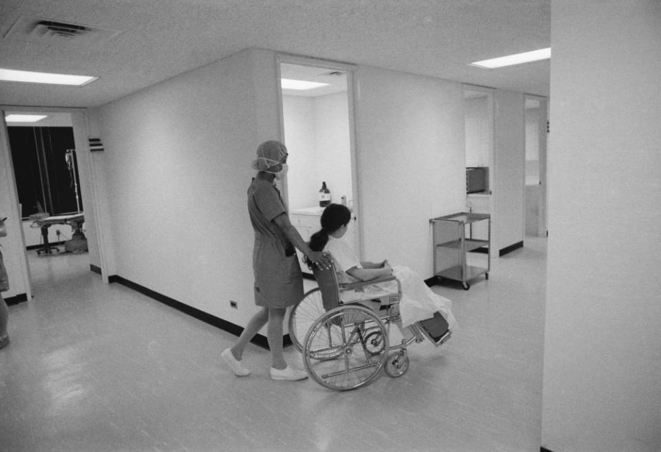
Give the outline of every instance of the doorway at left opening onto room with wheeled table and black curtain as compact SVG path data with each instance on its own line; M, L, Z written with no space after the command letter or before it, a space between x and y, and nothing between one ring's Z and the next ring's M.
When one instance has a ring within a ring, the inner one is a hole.
M12 162L8 169L17 190L19 221L14 225L25 253L25 292L39 296L49 283L66 283L90 271L84 214L90 206L83 206L87 193L81 184L86 156L79 158L86 134L80 113L14 107L3 115Z

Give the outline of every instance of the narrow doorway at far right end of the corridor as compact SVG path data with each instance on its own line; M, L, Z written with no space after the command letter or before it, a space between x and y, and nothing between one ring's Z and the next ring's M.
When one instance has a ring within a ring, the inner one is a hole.
M546 98L525 96L525 235L546 237Z

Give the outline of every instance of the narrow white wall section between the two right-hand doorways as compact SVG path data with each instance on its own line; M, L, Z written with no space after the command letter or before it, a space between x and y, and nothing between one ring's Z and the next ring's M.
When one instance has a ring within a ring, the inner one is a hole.
M490 186L494 196L492 241L496 250L518 244L524 236L524 97L523 93L495 90L494 177Z

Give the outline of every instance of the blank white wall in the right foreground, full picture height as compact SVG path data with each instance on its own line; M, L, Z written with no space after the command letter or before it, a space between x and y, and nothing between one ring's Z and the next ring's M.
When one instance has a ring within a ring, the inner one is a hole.
M543 446L661 450L661 3L552 3Z

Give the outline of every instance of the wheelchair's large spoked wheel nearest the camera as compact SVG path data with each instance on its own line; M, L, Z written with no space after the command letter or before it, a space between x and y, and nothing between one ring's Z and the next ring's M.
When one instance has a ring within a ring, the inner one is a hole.
M360 305L339 306L308 330L303 362L319 385L337 391L357 389L384 367L388 347L381 341L388 343L388 331L377 314Z

